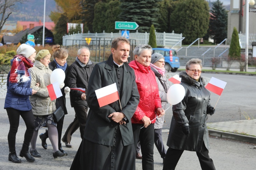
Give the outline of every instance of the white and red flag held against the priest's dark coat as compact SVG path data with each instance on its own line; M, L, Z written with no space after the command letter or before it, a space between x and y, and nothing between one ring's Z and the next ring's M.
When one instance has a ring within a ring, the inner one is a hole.
M119 100L116 83L95 90L100 107Z

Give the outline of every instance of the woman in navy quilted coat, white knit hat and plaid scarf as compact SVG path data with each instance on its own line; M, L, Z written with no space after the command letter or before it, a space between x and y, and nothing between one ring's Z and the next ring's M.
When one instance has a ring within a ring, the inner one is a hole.
M10 130L8 134L9 157L8 160L14 163L21 163L15 150L16 133L19 126L19 116L26 124L24 142L19 156L25 157L29 162L34 162L34 158L29 154L28 147L34 132L34 116L29 101L29 96L37 91L30 88L31 77L28 69L34 66L36 51L33 47L22 44L17 49L17 55L11 60L11 71L7 77L7 94L4 102Z

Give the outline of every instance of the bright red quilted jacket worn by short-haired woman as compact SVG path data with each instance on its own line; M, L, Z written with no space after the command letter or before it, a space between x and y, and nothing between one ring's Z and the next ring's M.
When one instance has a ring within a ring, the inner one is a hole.
M140 103L131 118L132 123L143 124L142 118L146 115L153 120L156 118L156 109L161 106L155 73L149 67L144 67L137 61L131 61L129 66L134 69L135 81L140 94ZM152 123L155 123L153 120Z

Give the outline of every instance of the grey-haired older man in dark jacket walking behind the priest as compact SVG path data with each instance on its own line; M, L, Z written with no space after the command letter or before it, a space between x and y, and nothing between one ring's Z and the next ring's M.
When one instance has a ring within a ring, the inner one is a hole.
M94 64L90 61L90 51L87 47L81 48L77 51L75 62L69 67L67 82L69 88L84 88L85 92L80 90L70 91L71 107L75 110L75 119L70 123L62 141L65 142L66 147L71 148L70 144L72 134L80 128L81 138L84 136L84 128L87 119L87 86L88 81L93 71Z

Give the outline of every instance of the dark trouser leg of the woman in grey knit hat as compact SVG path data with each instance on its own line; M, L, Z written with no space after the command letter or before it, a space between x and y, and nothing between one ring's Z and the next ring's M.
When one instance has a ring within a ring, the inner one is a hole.
M156 148L158 152L161 155L161 158L165 158L166 155L166 150L165 150L165 145L163 145L163 139L162 139L162 129L155 129L155 135L154 135L154 141Z

